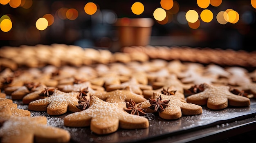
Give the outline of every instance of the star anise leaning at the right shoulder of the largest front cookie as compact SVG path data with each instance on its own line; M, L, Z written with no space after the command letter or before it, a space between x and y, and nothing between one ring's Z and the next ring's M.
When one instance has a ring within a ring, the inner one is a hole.
M146 113L144 111L146 111L143 108L139 108L139 106L141 105L141 103L137 104L130 99L129 102L126 102L126 109L124 109L126 112L130 113L130 114L136 114L138 116L143 116Z

